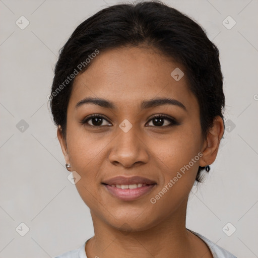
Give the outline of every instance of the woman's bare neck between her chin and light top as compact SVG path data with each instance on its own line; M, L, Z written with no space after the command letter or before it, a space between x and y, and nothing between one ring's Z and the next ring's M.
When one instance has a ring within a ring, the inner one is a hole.
M124 224L122 228L127 227L127 231L115 228L91 211L95 236L87 242L87 257L198 257L198 237L185 227L186 206L187 200L174 214L145 230Z

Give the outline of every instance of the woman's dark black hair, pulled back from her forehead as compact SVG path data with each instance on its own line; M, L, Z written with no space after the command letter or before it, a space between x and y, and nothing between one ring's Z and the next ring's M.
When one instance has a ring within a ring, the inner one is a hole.
M53 121L61 126L64 138L74 81L71 78L90 66L91 56L97 51L128 46L155 47L182 64L189 90L199 102L203 140L216 115L224 123L225 96L218 48L208 39L205 30L186 15L160 1L143 1L102 9L82 22L60 49L50 107ZM197 182L202 182L204 168L199 167Z

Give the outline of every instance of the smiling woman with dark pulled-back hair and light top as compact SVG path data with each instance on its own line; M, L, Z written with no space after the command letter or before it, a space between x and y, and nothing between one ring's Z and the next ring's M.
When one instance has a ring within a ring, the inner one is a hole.
M219 51L161 2L120 4L74 31L51 111L95 235L64 257L235 257L185 227L188 195L217 156Z

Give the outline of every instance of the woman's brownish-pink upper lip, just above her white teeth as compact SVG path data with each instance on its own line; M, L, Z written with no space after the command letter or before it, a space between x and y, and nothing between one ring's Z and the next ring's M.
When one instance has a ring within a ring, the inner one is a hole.
M157 184L155 181L142 176L116 176L102 182L108 185L130 185L130 184Z

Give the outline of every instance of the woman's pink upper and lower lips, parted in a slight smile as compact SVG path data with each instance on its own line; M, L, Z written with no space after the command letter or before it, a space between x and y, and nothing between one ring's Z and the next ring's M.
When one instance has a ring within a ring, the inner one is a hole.
M117 176L103 182L105 188L116 198L122 201L134 201L152 190L157 184L155 181L141 176ZM146 184L134 189L117 188L115 185Z

